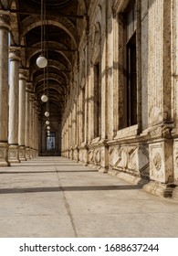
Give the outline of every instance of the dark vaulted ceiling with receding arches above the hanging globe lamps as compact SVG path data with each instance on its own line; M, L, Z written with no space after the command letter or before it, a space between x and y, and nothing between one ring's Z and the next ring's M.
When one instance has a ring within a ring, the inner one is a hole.
M65 95L72 77L72 68L79 46L78 23L87 12L88 0L1 0L1 8L9 10L11 46L22 49L22 68L29 71L33 91L39 100L45 86L49 100L58 109L64 107ZM41 6L44 27L42 33ZM43 34L43 38L42 38ZM47 68L37 67L42 41L45 43ZM40 101L39 101L40 102ZM42 105L42 102L40 102Z

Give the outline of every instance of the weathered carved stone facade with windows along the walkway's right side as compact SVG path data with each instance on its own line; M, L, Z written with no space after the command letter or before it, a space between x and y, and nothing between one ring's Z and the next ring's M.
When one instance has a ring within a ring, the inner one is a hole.
M62 155L67 156L68 151L68 157L73 159L71 148L77 145L75 160L140 182L143 189L152 194L171 197L178 179L178 4L162 0L135 2L137 123L127 125L124 22L130 4L131 1L119 0L90 1L89 21L84 20L79 31L82 37L76 78L78 90L72 90L73 98L69 98L70 105L78 101L79 138L75 142L70 139L73 134L68 133L68 129L73 130L74 126L68 120L71 110L67 108L62 125ZM100 70L99 113L95 107L96 65Z

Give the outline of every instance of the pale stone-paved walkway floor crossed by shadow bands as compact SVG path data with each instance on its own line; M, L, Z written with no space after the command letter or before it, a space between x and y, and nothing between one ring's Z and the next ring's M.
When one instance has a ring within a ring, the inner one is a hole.
M178 202L63 157L0 168L0 237L178 237Z

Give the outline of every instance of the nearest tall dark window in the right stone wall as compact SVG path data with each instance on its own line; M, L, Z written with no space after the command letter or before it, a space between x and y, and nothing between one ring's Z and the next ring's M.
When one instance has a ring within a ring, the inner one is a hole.
M137 123L137 54L136 7L131 5L126 13L126 74L127 74L127 126Z

